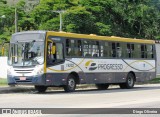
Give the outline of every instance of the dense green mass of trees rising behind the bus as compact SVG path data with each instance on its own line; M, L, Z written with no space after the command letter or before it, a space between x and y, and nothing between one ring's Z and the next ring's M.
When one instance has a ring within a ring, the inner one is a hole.
M23 30L59 31L59 13L63 31L157 39L160 37L160 0L40 0L31 11L20 1L18 27ZM14 33L14 10L0 0L0 38L9 40ZM2 39L1 39L2 40Z

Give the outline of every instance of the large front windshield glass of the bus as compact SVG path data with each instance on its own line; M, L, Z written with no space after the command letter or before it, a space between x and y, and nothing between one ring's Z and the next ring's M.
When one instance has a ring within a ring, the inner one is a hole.
M8 64L35 66L44 63L44 41L17 42L10 44Z

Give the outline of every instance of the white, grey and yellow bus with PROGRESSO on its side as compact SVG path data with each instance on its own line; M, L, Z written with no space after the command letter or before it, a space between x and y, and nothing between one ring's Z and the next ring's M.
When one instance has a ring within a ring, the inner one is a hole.
M135 82L156 77L155 41L54 31L26 31L12 35L8 56L8 84L34 85L39 92L77 84L110 84L133 88Z

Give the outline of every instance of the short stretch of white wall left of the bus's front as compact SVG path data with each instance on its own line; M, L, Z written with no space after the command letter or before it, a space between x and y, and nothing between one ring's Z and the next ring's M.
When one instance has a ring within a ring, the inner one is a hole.
M0 78L7 78L7 57L0 57Z

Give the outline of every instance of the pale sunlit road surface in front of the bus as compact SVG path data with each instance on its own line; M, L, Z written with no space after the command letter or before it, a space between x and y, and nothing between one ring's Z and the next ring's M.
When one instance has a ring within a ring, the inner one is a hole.
M160 84L136 85L133 89L115 86L108 90L79 89L73 93L63 90L43 94L36 91L3 93L0 108L160 108Z

